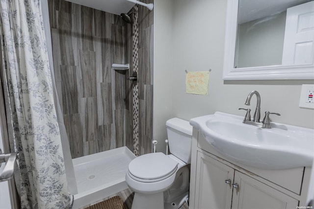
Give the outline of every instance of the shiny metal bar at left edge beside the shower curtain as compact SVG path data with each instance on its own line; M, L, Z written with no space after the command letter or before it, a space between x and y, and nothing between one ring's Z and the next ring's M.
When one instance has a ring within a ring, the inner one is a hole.
M6 162L2 173L0 174L0 182L10 180L14 173L14 163L18 153L0 154L0 163Z

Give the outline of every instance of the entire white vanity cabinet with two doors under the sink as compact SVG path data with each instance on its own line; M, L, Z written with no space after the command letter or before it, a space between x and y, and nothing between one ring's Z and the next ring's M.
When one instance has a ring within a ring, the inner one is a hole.
M259 170L217 153L193 129L190 209L296 209L305 206L310 169Z

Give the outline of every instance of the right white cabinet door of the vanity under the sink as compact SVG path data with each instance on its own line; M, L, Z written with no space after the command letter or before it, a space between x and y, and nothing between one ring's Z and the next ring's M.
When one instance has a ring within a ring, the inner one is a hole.
M245 174L235 171L232 209L296 209L298 201Z

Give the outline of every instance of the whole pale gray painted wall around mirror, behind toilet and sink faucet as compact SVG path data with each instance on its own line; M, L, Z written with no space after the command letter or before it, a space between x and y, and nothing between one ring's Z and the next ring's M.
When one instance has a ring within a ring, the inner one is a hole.
M313 80L222 80L226 6L226 0L155 1L154 139L160 151L164 150L167 119L189 120L215 111L244 116L238 108L247 107L244 102L252 90L261 94L261 112L282 115L271 116L273 122L314 128L314 110L298 106L301 84ZM209 95L185 94L184 70L209 68ZM251 108L255 105L253 98Z

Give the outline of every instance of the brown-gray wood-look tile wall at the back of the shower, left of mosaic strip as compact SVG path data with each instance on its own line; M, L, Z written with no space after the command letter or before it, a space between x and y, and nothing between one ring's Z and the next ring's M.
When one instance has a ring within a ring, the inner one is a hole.
M114 14L48 2L57 93L72 157L121 146L133 150L132 83L126 79L131 70L111 70L112 63L130 63L131 27Z

